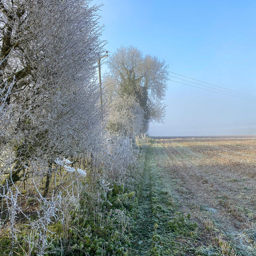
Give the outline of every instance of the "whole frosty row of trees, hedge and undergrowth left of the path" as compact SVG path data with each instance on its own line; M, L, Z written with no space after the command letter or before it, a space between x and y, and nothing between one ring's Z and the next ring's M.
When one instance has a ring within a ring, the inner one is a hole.
M99 7L0 1L1 255L129 255L138 141L163 118L167 71L122 47L100 90Z

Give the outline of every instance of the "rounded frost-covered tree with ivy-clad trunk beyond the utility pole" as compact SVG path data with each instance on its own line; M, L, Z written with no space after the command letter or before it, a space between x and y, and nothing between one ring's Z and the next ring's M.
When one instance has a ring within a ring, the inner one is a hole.
M135 47L120 47L109 58L109 76L107 85L118 97L134 97L144 111L144 132L150 121L162 122L168 79L164 61L146 55Z

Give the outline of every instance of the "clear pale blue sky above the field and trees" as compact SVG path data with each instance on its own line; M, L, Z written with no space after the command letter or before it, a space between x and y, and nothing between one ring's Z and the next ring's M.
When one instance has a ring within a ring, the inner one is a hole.
M132 45L165 60L171 72L256 97L256 1L101 3L106 50ZM151 124L149 135L256 134L256 99L170 80L165 104L164 124Z

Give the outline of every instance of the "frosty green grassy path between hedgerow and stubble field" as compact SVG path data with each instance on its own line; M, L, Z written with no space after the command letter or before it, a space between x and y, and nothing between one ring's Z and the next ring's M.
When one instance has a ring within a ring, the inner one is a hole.
M196 223L178 211L178 200L157 167L161 149L149 147L139 196L133 255L193 255Z

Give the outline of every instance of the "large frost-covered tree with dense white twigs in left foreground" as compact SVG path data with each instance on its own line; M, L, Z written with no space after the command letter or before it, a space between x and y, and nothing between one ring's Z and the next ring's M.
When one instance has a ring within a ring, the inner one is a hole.
M89 150L100 132L102 42L90 2L0 1L0 159L10 172L2 190L32 160L50 170L55 157Z

